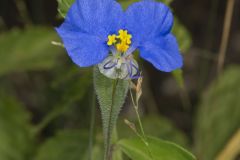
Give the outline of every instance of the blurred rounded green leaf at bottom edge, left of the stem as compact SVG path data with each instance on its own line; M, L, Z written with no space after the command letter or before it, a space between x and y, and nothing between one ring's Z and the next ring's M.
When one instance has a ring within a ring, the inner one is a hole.
M37 152L35 160L83 160L87 153L88 135L80 130L60 131L49 138Z

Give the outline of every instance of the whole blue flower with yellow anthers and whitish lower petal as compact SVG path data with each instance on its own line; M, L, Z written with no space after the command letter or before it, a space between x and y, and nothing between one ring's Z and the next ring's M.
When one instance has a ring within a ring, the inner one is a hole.
M153 0L134 3L126 11L115 0L76 0L56 30L78 66L98 65L109 78L129 79L139 76L132 55L136 49L158 70L182 66L172 26L170 9Z

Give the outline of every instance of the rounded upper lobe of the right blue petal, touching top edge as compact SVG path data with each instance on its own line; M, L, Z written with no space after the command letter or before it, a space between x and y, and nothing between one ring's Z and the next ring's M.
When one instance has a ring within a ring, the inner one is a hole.
M173 15L167 6L160 2L143 0L134 3L126 11L126 28L133 35L135 43L166 35L172 26Z

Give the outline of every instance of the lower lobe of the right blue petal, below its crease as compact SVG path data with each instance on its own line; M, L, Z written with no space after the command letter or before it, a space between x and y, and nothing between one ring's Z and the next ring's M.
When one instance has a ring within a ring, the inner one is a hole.
M140 56L161 71L171 72L183 65L176 38L172 34L147 41L139 49Z

